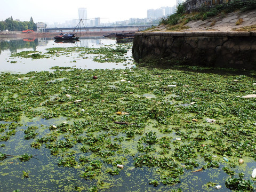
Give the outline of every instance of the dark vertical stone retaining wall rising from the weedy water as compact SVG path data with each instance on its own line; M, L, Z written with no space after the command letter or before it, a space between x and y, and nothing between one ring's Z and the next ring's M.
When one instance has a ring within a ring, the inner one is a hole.
M174 59L187 65L256 69L256 32L136 33L135 61Z

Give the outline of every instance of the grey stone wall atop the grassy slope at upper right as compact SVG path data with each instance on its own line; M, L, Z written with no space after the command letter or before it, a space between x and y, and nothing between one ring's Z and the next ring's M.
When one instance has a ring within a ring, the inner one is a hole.
M203 6L214 6L223 3L228 3L231 0L187 0L185 2L185 7L187 12L197 11Z

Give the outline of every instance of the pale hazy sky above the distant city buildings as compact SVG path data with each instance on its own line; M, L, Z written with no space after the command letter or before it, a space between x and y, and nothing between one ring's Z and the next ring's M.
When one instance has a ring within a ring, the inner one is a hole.
M64 23L78 19L78 8L87 9L87 18L100 17L101 22L146 18L148 9L174 6L176 0L0 0L0 21L12 16L20 21ZM103 19L107 18L107 19Z

